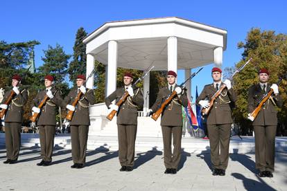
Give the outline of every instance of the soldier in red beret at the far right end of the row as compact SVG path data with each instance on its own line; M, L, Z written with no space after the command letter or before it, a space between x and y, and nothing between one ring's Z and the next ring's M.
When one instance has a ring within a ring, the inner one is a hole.
M277 110L275 107L281 107L283 104L277 84L271 85L268 80L268 70L261 69L259 71L259 84L253 85L248 91L248 112L252 113L264 94L268 93L270 89L273 90L272 96L263 104L255 119L248 114L248 118L253 121L255 161L256 169L259 170L259 177L273 177L277 131Z

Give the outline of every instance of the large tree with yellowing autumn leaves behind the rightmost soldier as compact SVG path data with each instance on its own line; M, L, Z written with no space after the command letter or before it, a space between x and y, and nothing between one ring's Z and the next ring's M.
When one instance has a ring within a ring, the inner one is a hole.
M234 76L234 90L238 95L236 109L234 110L235 121L243 128L243 134L252 130L251 122L247 120L247 89L252 84L258 83L258 71L266 68L270 71L270 83L277 83L287 72L287 35L278 34L272 30L252 28L245 42L239 42L238 48L243 48L242 60L236 64L236 68L242 66L250 57L252 62L247 64L241 73ZM227 69L229 73L234 69ZM287 80L279 84L279 91L284 99L284 106L278 109L278 118L281 125L287 124ZM279 129L282 127L279 125ZM282 130L282 129L281 129Z

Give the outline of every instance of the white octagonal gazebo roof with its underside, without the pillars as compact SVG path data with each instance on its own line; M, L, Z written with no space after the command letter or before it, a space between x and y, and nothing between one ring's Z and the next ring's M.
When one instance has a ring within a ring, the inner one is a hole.
M167 69L167 39L177 37L177 68L192 69L214 62L214 48L226 49L227 31L178 17L112 21L89 34L87 53L107 64L107 43L118 42L118 67Z

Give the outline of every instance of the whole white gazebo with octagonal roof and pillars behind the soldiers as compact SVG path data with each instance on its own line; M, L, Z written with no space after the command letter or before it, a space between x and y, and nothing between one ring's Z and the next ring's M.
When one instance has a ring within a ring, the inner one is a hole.
M106 66L108 96L116 89L117 67L146 70L153 65L155 71L183 69L185 78L198 66L214 63L221 67L227 31L178 17L112 21L94 30L83 42L87 45L87 75L94 69L95 60ZM89 78L87 87L94 87L94 78ZM149 87L148 75L143 81L143 112L149 108ZM190 98L191 82L186 87ZM98 119L105 116L106 110L103 104L91 107L91 120L96 122L92 122L91 130L97 130L90 134L103 132L108 122Z

